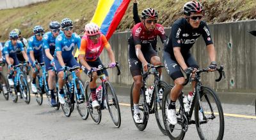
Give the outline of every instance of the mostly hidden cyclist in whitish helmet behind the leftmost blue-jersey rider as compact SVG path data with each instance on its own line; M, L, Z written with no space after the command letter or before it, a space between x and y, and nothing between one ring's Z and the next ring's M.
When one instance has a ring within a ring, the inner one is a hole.
M19 34L19 38L18 39L21 41L22 45L24 46L24 51L27 53L27 48L28 48L28 41L27 41L27 39L26 38L22 38L20 29L13 29L13 31L16 31L17 34ZM24 59L20 49L17 49L16 54L17 54L17 58L18 58L19 62L25 62L25 59ZM26 74L27 74L27 81L28 81L28 83L30 82L29 71L30 71L30 67L26 66Z

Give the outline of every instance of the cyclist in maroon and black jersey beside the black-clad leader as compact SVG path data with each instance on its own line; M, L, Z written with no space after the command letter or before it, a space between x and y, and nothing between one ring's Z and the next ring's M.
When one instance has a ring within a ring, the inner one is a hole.
M160 36L161 41L166 40L164 27L157 24L157 11L147 8L141 13L141 22L134 25L129 38L129 67L134 80L133 102L134 102L134 120L136 123L142 123L138 102L140 100L140 88L142 87L141 64L144 71L147 71L148 63L160 65L160 58L152 48L152 42ZM161 69L159 69L161 73ZM161 74L160 74L161 75Z

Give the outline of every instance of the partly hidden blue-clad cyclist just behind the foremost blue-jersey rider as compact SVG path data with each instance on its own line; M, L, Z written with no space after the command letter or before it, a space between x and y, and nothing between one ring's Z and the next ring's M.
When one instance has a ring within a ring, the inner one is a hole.
M45 62L45 69L48 73L48 86L49 86L49 93L51 94L51 104L52 106L56 106L56 100L54 95L54 82L55 82L55 72L52 71L53 66L53 55L55 51L55 39L56 37L62 33L60 30L60 23L57 21L53 21L49 24L49 28L51 31L46 32L43 36L43 45L44 45L44 62Z

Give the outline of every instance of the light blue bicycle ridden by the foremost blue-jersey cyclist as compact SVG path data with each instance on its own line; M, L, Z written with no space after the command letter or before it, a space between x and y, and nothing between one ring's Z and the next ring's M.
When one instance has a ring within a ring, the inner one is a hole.
M80 67L67 67L67 69L64 69L63 79L65 80L65 85L63 87L63 90L65 94L65 104L61 104L61 109L63 110L65 116L69 117L74 110L74 103L76 103L79 115L82 117L83 120L86 120L88 118L86 102L85 100L79 101L79 94L81 94L81 97L85 97L83 81L76 76L77 69L80 69ZM67 74L67 71L70 71L70 73ZM72 77L71 81L68 80L68 76ZM80 93L77 92L77 87L80 88ZM73 103L72 101L74 99L75 102Z

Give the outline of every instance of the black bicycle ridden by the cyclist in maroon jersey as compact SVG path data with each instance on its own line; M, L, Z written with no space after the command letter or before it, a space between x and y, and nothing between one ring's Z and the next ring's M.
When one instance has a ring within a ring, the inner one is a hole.
M159 115L162 115L162 111L160 111L162 109L162 98L161 95L163 97L163 94L159 93L159 92L164 92L165 88L168 86L168 83L166 83L165 81L161 81L159 78L159 72L157 71L157 69L160 69L161 67L164 67L163 65L159 65L159 66L153 66L152 64L148 64L148 70L146 73L142 74L142 78L143 78L143 86L140 89L140 101L139 101L139 109L140 111L143 112L142 116L142 120L143 123L136 123L133 115L134 115L134 106L133 106L133 88L134 88L134 83L132 83L132 87L131 87L131 95L130 95L130 99L131 99L131 112L132 112L132 119L136 125L136 127L139 130L144 130L147 127L147 123L148 123L148 118L149 115L154 113L156 116L156 121L157 121L157 125L159 127L159 129L161 130L161 132L164 135L167 135L166 130L164 129L164 124L163 124L163 120L161 118L163 117L159 117ZM150 95L149 93L149 99L147 99L146 97L146 92L148 92L147 90L147 79L150 76L150 74L154 75L154 83L153 83L153 92ZM159 106L159 107L158 107Z

